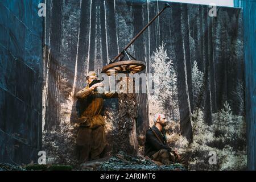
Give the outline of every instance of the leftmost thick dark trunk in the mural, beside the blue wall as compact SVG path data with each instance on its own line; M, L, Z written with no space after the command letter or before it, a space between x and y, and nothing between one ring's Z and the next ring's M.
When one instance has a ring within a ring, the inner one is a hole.
M59 129L60 123L60 47L61 47L61 5L52 1L51 53L49 55L49 85L46 104L45 130Z

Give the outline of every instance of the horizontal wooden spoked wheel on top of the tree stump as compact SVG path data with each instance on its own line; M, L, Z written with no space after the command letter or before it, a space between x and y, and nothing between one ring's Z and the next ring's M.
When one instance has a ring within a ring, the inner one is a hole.
M118 61L111 63L102 68L101 73L117 75L118 73L131 73L135 74L143 71L146 65L142 61L129 60L129 61Z

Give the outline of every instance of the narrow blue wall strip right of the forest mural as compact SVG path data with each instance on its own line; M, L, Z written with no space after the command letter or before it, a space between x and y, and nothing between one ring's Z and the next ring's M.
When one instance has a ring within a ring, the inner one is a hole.
M255 67L256 67L256 1L237 1L234 6L243 8L243 39L245 42L245 84L246 84L246 126L248 168L256 169L256 101Z

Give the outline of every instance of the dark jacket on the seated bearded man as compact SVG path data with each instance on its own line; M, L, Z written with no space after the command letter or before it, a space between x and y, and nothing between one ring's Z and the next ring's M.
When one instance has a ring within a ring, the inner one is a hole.
M158 138L155 137L155 134L151 131L151 129L155 131L156 135L158 135L161 142L159 141ZM160 149L166 149L168 152L171 152L171 148L166 145L165 135L161 133L156 126L152 126L151 129L148 129L146 132L144 155L150 157Z

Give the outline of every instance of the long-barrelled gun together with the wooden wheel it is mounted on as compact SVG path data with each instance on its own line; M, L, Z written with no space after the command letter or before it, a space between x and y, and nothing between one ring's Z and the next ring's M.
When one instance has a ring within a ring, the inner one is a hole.
M146 28L150 26L150 24L154 22L154 20L158 18L158 16L163 13L165 9L167 9L167 7L170 7L170 5L165 3L164 8L131 40L129 44L127 44L127 46L117 56L114 57L113 60L110 60L109 64L102 68L101 73L106 73L108 76L110 76L112 74L117 75L118 73L134 74L143 71L143 69L146 68L145 63L143 61L136 60L126 50L146 30ZM123 61L125 56L127 56L129 60Z

